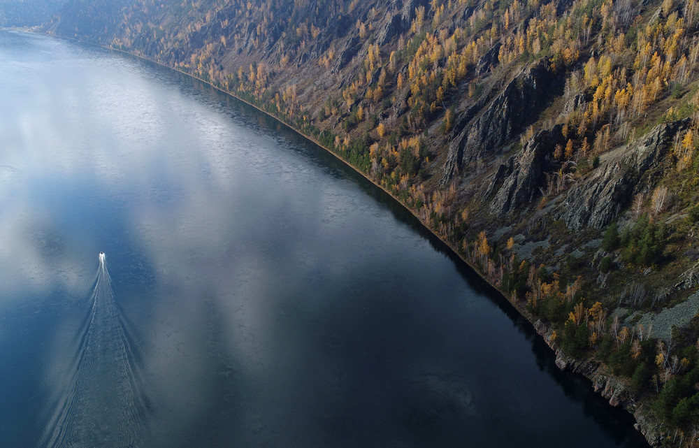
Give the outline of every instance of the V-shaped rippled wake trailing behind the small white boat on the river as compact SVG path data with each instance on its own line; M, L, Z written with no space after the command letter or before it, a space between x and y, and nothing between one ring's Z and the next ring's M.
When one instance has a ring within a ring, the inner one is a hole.
M106 255L100 252L87 315L75 335L69 378L41 446L142 446L147 406L130 339L114 301Z

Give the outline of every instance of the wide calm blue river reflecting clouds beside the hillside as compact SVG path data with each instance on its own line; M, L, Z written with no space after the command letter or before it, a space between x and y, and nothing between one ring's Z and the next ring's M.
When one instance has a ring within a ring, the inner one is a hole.
M1 447L642 446L280 124L43 36L0 34L0 80Z

